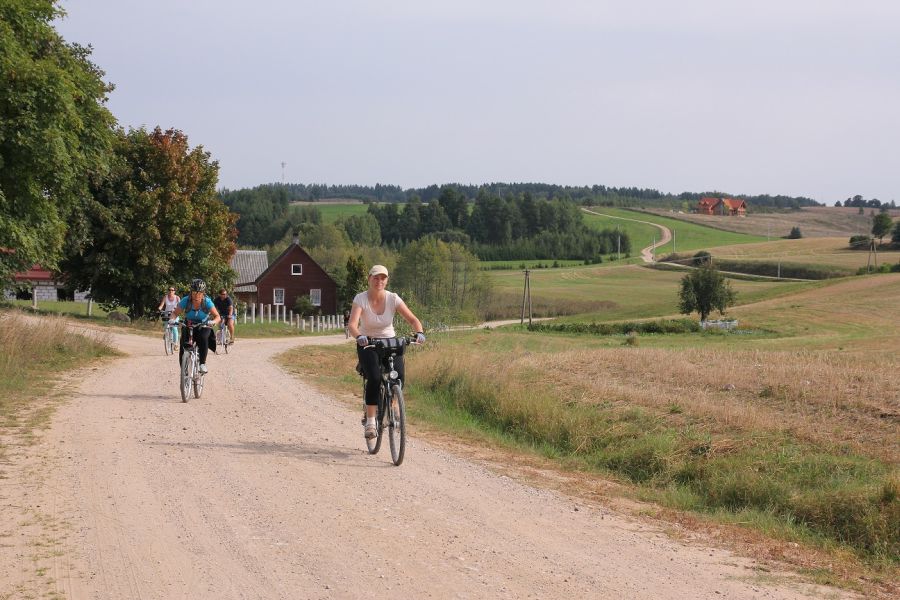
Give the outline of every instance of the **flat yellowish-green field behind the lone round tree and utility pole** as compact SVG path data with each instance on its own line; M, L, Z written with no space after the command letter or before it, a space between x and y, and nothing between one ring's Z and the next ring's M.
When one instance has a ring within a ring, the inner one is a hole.
M493 294L480 307L485 319L522 314L524 276L518 271L489 271ZM531 303L535 317L613 321L678 314L678 290L684 273L631 265L613 268L568 267L531 272ZM731 280L739 304L789 294L817 283Z

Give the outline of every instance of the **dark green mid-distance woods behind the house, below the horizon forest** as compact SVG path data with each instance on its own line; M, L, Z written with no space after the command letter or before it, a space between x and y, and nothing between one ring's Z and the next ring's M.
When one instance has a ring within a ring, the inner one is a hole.
M295 198L287 185L220 190L219 195L239 216L238 243L242 246L270 246L291 230L302 229L309 235L313 234L310 226L324 226L315 206L291 206ZM481 260L600 262L604 255L627 255L631 250L625 233L587 226L571 198L536 197L531 192L500 195L487 186L479 188L472 199L448 185L428 202L416 194L402 204L369 202L364 215L343 217L335 227L350 243L360 246L398 249L435 237L461 244Z

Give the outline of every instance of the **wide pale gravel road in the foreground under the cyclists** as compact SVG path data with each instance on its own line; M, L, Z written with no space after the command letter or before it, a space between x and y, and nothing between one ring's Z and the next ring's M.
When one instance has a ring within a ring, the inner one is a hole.
M80 371L0 485L0 598L807 598L823 588L498 475L359 411L240 339L180 401L161 342ZM348 365L348 369L351 365ZM413 401L415 401L413 399ZM8 560L8 559L12 560ZM827 590L829 597L845 597Z

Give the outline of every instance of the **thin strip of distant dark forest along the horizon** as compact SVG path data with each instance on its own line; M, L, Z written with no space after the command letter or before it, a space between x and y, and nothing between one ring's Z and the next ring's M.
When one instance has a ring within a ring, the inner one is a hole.
M658 206L666 208L681 208L684 202L696 202L702 197L741 198L755 209L791 209L803 206L821 206L811 198L803 196L784 195L746 195L729 194L720 191L706 192L681 192L671 194L660 192L651 188L638 187L611 187L605 185L568 186L550 183L484 183L480 185L447 183L443 185L432 184L423 188L403 189L398 185L375 184L366 185L328 185L319 183L267 183L254 188L242 188L240 190L220 190L220 194L227 196L234 192L247 189L259 190L262 188L283 189L289 202L318 202L322 200L348 199L361 202L408 202L417 197L424 203L437 200L442 190L453 188L461 193L469 201L474 201L482 190L496 196L531 194L536 199L560 199L571 200L576 204L586 206Z

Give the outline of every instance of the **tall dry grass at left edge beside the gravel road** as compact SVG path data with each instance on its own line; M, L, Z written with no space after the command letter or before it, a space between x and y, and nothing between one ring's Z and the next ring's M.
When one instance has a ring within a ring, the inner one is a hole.
M53 413L47 394L66 371L115 355L104 337L72 333L63 319L0 311L0 458L11 438L28 441Z

